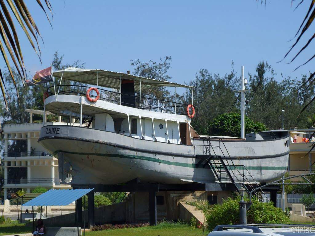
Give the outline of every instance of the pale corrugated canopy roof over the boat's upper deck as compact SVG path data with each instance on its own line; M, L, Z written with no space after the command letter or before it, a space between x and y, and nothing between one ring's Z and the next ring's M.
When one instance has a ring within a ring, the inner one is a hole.
M54 71L54 77L58 77L71 81L78 81L91 85L98 85L101 87L109 87L114 89L120 88L120 79L128 79L135 81L135 91L147 90L154 87L183 87L190 88L192 86L173 83L169 81L162 81L156 79L150 79L140 76L128 75L122 72L114 72L109 70L99 69L81 69L75 67L67 67L63 70Z

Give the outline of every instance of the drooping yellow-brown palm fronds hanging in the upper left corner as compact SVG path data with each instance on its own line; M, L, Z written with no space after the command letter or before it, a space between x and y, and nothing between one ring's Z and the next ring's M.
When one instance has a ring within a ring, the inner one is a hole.
M23 54L20 48L20 42L19 42L19 37L17 35L17 31L15 29L14 26L14 21L12 20L11 15L14 15L14 17L16 18L16 20L19 22L20 26L22 27L24 33L26 34L31 46L33 47L33 49L35 50L35 52L37 53L39 59L41 57L41 51L39 48L39 44L38 44L38 36L42 38L37 25L35 23L35 21L33 20L28 8L26 7L24 1L13 1L12 0L8 0L7 1L8 4L5 4L4 1L0 1L0 8L2 9L2 12L0 13L0 22L1 22L1 26L0 26L0 31L1 31L1 37L2 37L2 41L0 41L0 50L3 56L3 59L7 65L8 71L9 71L9 76L10 76L10 80L13 82L15 90L16 90L16 94L17 94L17 100L18 100L18 106L21 104L20 103L20 99L19 99L19 91L18 91L18 87L16 86L16 79L17 77L20 78L20 81L24 87L26 84L26 69L24 66L24 59L23 59ZM42 3L40 0L37 0L38 5L43 9L44 13L46 14L46 10L43 7ZM49 11L52 14L52 7L51 4L49 2L49 0L45 0L46 3L46 7L49 9ZM9 12L8 10L8 6L11 9L12 13ZM50 23L49 17L46 14L47 19ZM27 28L26 28L26 26ZM51 23L50 23L51 25ZM32 37L30 36L30 34L32 35ZM33 39L32 39L33 38ZM35 41L37 43L37 49L34 45ZM11 66L9 64L9 60L8 60L8 56L6 51L4 50L4 45L7 49L7 51L9 52L10 58L15 66L15 70L17 72L17 75L13 73L13 70L11 69ZM5 87L5 81L3 79L3 75L0 69L0 89L1 89L1 93L3 96L3 101L5 104L5 107L7 109L7 111L9 112L8 109L8 100L10 99L10 96L8 94L8 90ZM2 137L1 135L2 133L2 129L0 128L0 137Z

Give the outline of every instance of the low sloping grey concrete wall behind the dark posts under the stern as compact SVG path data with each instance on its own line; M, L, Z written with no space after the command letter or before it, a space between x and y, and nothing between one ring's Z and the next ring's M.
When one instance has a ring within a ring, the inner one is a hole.
M106 223L122 223L126 221L125 217L126 203L118 203L108 206L95 208L95 224ZM84 219L82 211L82 222ZM85 211L85 221L88 222L88 211ZM62 216L55 216L43 220L45 226L51 227L71 227L76 226L75 213L70 213Z

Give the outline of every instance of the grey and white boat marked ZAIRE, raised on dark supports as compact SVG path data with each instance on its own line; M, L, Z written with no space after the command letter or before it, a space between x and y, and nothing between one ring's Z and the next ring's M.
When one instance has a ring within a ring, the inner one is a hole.
M192 87L96 69L55 71L44 110L68 117L67 125L43 125L38 142L59 159L59 178L70 184L266 183L287 171L284 130L246 139L199 136L192 104L146 95L148 89ZM64 81L75 81L69 85ZM94 95L91 95L91 91ZM188 106L188 108L187 108ZM192 108L192 111L190 111ZM198 112L198 110L196 111ZM73 126L73 119L79 126Z

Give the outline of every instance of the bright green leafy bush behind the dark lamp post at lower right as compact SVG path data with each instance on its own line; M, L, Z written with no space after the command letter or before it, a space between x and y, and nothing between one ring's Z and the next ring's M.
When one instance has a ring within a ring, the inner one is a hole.
M215 204L206 212L208 229L211 231L217 225L238 224L239 199L228 198L221 205ZM248 224L288 224L289 217L271 202L264 203L253 199L253 204L247 211Z

